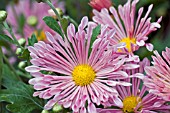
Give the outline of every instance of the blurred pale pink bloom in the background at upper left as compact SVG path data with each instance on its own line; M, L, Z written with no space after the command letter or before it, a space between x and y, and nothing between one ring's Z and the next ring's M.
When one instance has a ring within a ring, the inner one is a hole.
M61 9L64 8L63 2L58 2L58 0L55 0L53 4ZM45 31L55 35L55 32L51 30L42 20L44 16L49 16L49 9L50 7L45 3L20 0L19 3L14 6L7 6L7 22L12 25L17 39L28 38L35 33L38 40L45 41Z

